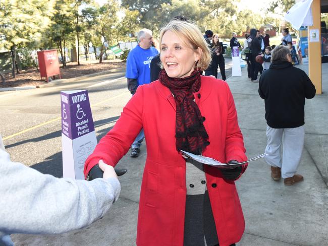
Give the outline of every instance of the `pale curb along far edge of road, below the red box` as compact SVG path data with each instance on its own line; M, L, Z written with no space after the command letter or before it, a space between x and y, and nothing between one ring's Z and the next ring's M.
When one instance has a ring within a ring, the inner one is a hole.
M75 77L75 78L70 78L70 79L53 80L53 81L48 82L48 83L43 84L43 85L23 86L23 87L5 87L5 88L0 88L0 91L18 91L18 90L29 90L29 89L35 89L35 88L49 87L49 86L54 86L54 85L58 85L58 84L61 84L61 83L74 82L76 80L80 80L80 79L83 79L83 78L89 78L89 77L93 77L93 76L99 76L99 75L104 75L104 74L115 73L115 72L121 71L122 69L125 70L125 67L117 68L117 69L110 69L108 71L103 71L103 72L94 73L94 74L87 74L87 75L83 75L83 76Z

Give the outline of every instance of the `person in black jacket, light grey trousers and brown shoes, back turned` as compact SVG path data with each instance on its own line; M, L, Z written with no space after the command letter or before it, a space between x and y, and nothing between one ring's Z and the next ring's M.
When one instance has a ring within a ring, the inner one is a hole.
M315 96L315 87L304 71L293 67L289 49L277 46L270 69L262 74L258 93L265 103L267 146L265 161L271 177L283 177L287 186L302 181L296 174L304 145L305 98ZM284 138L283 138L284 134ZM283 145L283 157L280 156Z

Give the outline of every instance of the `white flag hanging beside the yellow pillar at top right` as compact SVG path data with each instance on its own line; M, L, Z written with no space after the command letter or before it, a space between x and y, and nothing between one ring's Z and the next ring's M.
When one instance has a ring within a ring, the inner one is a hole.
M285 14L285 20L290 22L296 30L299 30L301 26L313 26L312 2L313 0L302 0L296 3Z

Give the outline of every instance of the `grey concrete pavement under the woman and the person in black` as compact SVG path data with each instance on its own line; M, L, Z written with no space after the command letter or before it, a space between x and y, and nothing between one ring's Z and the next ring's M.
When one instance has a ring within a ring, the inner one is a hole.
M322 71L328 70L325 65L328 64L322 65L325 68ZM323 92L328 92L328 81L325 76L323 79ZM258 84L249 81L246 69L242 69L242 77L229 78L228 84L235 98L247 155L261 154L266 145L266 123ZM262 159L250 163L236 182L246 221L238 246L327 245L327 99L324 93L306 101L305 146L299 166L303 182L286 187L283 181L273 181L269 166ZM96 131L98 137L105 134L104 129ZM143 145L138 158L127 155L119 162L118 167L129 170L120 177L120 199L102 219L61 235L16 234L13 235L16 245L135 245L145 151Z

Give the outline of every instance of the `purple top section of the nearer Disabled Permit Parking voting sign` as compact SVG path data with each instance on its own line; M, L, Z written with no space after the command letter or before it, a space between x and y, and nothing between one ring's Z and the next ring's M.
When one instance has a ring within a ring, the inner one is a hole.
M62 133L76 139L94 131L88 91L62 91Z

